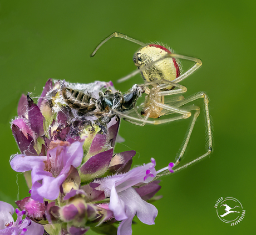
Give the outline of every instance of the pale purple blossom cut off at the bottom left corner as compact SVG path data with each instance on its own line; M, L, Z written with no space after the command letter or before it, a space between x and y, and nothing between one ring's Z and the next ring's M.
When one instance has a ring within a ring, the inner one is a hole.
M25 211L15 210L17 213L16 222L13 221L11 214L14 208L6 202L0 201L0 234L5 235L42 235L43 226L37 224L29 218L22 219Z

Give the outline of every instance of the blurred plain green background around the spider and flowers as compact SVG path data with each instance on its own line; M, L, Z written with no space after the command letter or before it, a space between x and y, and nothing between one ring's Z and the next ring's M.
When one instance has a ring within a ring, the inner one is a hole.
M9 166L18 152L9 122L22 93L40 95L48 78L114 83L135 70L138 45L114 38L90 54L104 37L121 32L142 42L160 41L203 66L181 84L185 96L210 97L214 152L198 164L164 177L154 203L154 226L136 219L133 234L254 234L255 232L255 1L0 1L1 181L0 200L28 196L23 176ZM139 75L116 89L142 83ZM200 101L198 104L201 104ZM202 106L202 105L201 105ZM144 127L122 121L123 144L136 150L134 165L156 159L157 169L175 158L189 120ZM204 112L185 154L189 162L205 152ZM235 197L245 218L230 227L216 215L220 197ZM88 232L88 234L94 234Z

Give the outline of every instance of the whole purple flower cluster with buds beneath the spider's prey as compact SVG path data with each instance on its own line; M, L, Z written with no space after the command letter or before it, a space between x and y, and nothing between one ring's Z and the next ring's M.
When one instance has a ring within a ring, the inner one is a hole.
M72 89L68 97L63 96L66 87ZM91 228L128 235L135 214L154 224L157 209L146 201L159 198L155 193L161 186L154 179L168 167L156 171L151 159L130 170L136 152L114 153L120 118L109 108L97 110L99 94L106 90L115 91L111 81L49 79L37 104L22 95L11 122L21 154L13 155L10 164L24 172L31 196L16 202L21 210L16 222L10 216L14 208L0 203L0 234L82 235Z

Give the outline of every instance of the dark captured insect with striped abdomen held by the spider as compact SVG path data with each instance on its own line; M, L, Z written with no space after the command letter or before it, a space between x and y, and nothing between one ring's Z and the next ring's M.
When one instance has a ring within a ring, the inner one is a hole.
M108 123L116 112L126 113L134 108L137 99L143 92L139 85L134 85L125 94L113 93L112 90L99 92L99 98L93 98L82 91L73 90L67 86L62 88L62 97L65 103L72 109L76 109L81 115L95 115Z

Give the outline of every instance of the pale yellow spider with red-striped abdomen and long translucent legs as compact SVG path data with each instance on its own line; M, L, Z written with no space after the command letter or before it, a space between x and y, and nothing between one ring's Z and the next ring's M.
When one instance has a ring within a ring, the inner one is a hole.
M165 101L168 96L182 94L187 91L186 87L180 85L179 82L183 81L187 78L191 73L193 73L196 69L198 69L202 62L198 58L187 57L185 55L179 55L171 53L169 48L164 47L159 44L145 44L131 38L125 34L121 34L118 32L112 33L109 37L104 39L93 51L91 57L93 57L97 50L106 43L110 38L123 38L126 40L130 40L133 43L139 44L142 46L135 54L134 54L134 63L139 68L138 70L132 72L131 74L125 76L118 80L118 82L125 81L127 79L132 78L137 73L141 73L142 78L144 79L144 91L146 93L145 101L141 104L141 110L134 109L137 117L126 115L121 113L119 110L116 110L116 113L123 116L127 121L136 125L145 125L145 123L149 124L163 124L166 122L171 122L179 119L187 119L191 116L191 113L194 112L193 118L191 120L191 124L189 126L189 130L185 136L184 144L179 152L178 156L175 159L175 166L177 166L184 155L186 147L188 146L188 142L191 136L191 132L193 131L195 121L200 114L200 108L196 105L186 105L194 100L199 98L203 98L204 100L204 108L206 113L206 125L207 125L207 142L208 142L208 150L207 152L195 159L194 161L186 164L180 168L187 167L190 164L193 164L200 159L208 156L212 151L212 137L211 137L211 124L210 124L210 115L209 115L209 99L208 96L204 92L199 92L189 98L184 98L183 95L180 96L172 96L173 99L169 99ZM193 67L185 71L185 73L180 73L180 65L178 60L190 60L195 64ZM184 106L186 105L186 106ZM169 118L161 119L161 116L172 115ZM157 120L150 120L156 119ZM179 169L180 169L179 168ZM179 170L177 169L177 170Z

